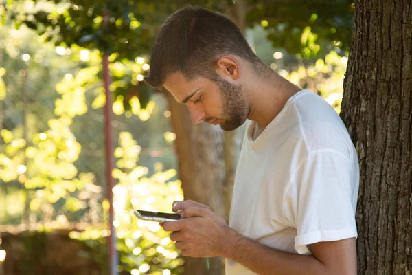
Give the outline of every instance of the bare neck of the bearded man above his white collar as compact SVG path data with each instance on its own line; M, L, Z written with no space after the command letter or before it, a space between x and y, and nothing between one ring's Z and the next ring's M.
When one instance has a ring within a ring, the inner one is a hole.
M251 109L247 118L256 122L261 131L282 111L288 99L301 90L272 70L265 78L256 76L250 84L247 91L251 91Z

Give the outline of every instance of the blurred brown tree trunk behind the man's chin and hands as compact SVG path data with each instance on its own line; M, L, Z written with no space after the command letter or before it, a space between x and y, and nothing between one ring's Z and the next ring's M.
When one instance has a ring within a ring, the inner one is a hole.
M231 19L242 32L246 28L246 1L228 7ZM185 199L206 204L216 214L229 220L234 175L242 144L244 127L225 132L219 126L192 124L187 107L165 92L176 133L175 148ZM199 259L185 257L185 274L224 274L221 257Z

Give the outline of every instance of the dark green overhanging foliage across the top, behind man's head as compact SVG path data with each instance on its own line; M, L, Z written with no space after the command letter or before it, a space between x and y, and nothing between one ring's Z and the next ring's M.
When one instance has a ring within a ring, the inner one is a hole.
M298 53L304 58L319 58L332 47L347 50L350 45L354 11L351 0L244 1L247 12L244 23L249 27L256 24L264 26L273 47L284 47L288 52ZM119 64L118 67L126 67L119 74L112 69L111 91L115 96L113 111L116 114L128 111L126 115L129 116L136 113L132 110L131 98L138 98L144 108L152 96L152 89L140 83L142 69L133 61L138 56L149 55L155 35L169 14L190 3L217 10L236 20L236 5L242 4L233 5L234 2L228 0L181 0L173 3L165 0L155 3L150 0L28 2L33 5L29 12L16 12L9 4L5 5L8 12L3 10L3 13L14 19L16 26L25 24L56 46L77 46L112 54L111 61ZM81 95L81 91L78 94ZM93 108L104 104L102 91L96 96ZM81 110L84 106L79 106L78 111Z

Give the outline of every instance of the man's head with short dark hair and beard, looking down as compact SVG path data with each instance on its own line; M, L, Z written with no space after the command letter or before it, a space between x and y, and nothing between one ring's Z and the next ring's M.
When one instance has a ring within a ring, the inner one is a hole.
M231 131L244 123L250 109L248 91L242 88L243 75L247 68L262 66L227 17L185 7L163 24L145 80L187 104L192 122L204 120Z

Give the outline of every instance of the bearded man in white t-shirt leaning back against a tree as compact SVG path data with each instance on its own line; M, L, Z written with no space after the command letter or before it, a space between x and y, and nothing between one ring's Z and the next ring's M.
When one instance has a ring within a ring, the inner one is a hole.
M229 225L194 201L163 224L183 256L224 256L229 275L356 274L358 159L330 105L264 65L229 19L194 7L165 21L146 82L193 123L251 120Z

